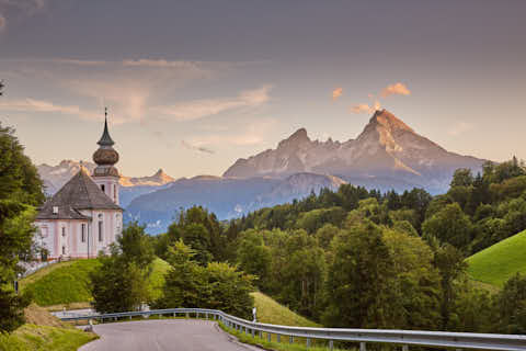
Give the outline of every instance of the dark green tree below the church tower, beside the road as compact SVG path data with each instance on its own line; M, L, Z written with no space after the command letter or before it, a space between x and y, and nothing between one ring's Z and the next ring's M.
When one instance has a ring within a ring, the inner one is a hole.
M136 310L149 299L153 248L144 227L133 223L100 258L102 267L90 273L93 302L99 313Z

